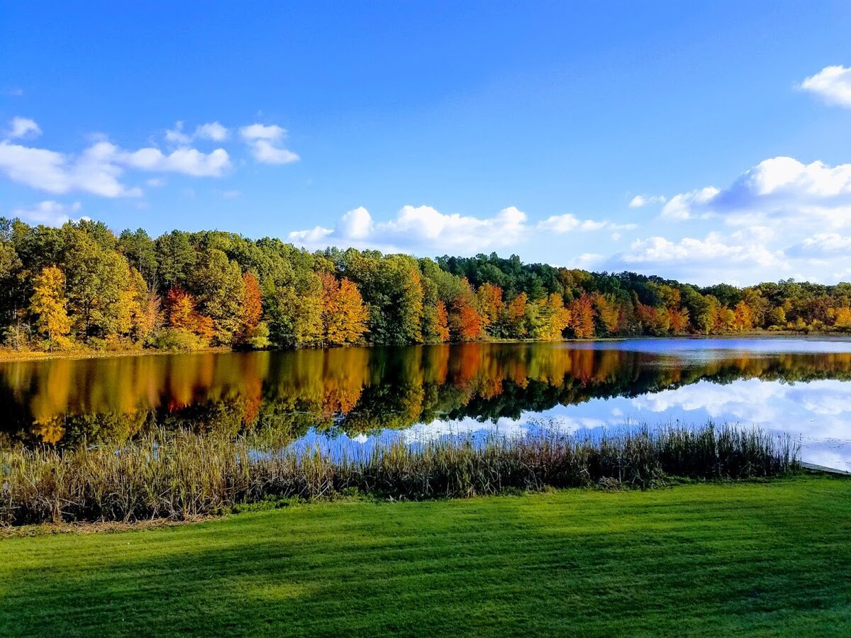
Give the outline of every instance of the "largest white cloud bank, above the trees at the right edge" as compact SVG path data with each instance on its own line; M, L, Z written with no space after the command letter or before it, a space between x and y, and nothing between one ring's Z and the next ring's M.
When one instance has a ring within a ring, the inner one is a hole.
M688 225L665 225L671 220L698 224L700 234L683 231ZM707 226L714 231L705 235ZM647 236L606 266L696 283L751 284L782 276L835 282L848 277L849 229L851 163L771 157L726 188L670 197Z

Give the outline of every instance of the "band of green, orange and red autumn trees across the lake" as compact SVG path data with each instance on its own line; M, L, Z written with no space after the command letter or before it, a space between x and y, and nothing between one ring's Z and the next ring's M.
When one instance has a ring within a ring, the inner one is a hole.
M417 259L223 231L0 219L5 350L197 350L851 331L851 284L700 288L634 272Z

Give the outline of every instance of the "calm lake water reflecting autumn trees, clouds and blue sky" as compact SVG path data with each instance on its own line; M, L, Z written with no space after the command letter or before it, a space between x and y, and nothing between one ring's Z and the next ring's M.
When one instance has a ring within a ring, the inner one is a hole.
M162 424L286 441L735 422L851 470L851 342L635 339L0 363L0 446Z

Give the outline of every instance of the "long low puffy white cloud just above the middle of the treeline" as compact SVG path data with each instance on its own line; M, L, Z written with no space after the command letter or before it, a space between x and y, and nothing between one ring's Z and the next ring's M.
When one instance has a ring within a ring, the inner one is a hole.
M288 240L316 248L335 244L382 250L475 253L514 246L534 232L563 234L625 226L581 220L573 214L553 215L530 224L527 215L513 206L492 217L443 214L431 206L405 206L394 219L375 221L366 208L360 207L343 215L334 228L316 226L294 231Z

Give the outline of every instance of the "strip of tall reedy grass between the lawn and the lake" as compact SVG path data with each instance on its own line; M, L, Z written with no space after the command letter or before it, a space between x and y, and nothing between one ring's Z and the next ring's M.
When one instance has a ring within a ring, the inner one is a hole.
M469 497L509 489L653 487L670 476L778 476L798 466L788 437L711 424L580 438L443 438L363 451L260 452L248 438L157 431L119 449L0 452L0 524L183 519L265 498Z

